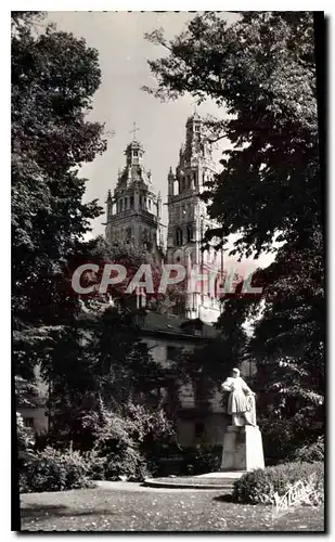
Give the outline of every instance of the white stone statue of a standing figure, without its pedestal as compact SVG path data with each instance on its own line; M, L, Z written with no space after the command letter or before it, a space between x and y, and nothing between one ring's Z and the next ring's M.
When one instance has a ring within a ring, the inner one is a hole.
M240 370L233 369L231 376L221 385L222 391L229 391L228 414L232 416L232 425L256 426L255 393L240 376Z

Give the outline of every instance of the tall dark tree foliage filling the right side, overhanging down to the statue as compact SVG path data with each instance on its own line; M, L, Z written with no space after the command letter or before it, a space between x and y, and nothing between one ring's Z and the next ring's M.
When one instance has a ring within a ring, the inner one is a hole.
M211 141L231 142L204 194L220 223L208 238L220 236L224 246L237 235L230 253L237 257L282 243L274 263L256 274L263 295L249 305L261 308L247 352L258 362L263 408L269 414L272 403L296 425L304 416L320 421L325 300L313 15L244 12L229 25L205 13L169 42L162 30L147 39L167 51L149 62L158 82L149 92L190 92L226 107L226 118L207 122ZM224 319L229 325L230 314Z

